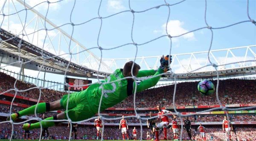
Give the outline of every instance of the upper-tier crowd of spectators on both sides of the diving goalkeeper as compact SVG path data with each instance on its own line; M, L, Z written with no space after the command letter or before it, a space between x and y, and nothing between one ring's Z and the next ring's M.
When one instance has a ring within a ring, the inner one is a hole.
M0 72L0 92L9 89L14 89L15 78ZM6 81L5 81L6 80ZM8 81L7 81L8 80ZM212 81L215 86L217 81ZM177 83L175 105L176 106L194 106L194 105L214 105L219 104L216 95L203 96L197 90L198 82L183 82ZM221 104L251 104L256 101L256 81L255 80L240 80L228 79L219 81L218 95ZM17 81L16 87L19 90L25 90L36 87L31 83ZM137 93L136 105L140 107L154 107L156 104L163 106L172 106L174 85L162 86L154 89L147 89ZM9 91L15 94L15 91ZM52 102L62 98L65 92L59 92L52 89L41 89L41 100ZM18 92L17 95L22 95L29 98L38 99L39 89L30 89L25 92ZM114 107L133 107L133 96L128 97L125 101ZM164 100L163 100L164 99ZM154 102L152 102L154 101Z

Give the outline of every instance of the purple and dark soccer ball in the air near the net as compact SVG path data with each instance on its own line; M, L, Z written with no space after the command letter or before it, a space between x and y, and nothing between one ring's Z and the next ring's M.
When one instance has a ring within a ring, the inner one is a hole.
M215 86L211 81L202 80L198 83L198 91L202 95L211 95L215 90Z

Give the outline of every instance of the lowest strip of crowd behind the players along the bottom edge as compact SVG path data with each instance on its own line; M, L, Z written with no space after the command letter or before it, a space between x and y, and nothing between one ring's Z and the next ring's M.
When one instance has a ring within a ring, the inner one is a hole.
M129 127L128 134L130 139L133 139L132 129L134 127ZM150 132L150 129L143 127L143 139L146 139L146 132ZM9 139L12 132L12 126L9 123L3 123L0 126L0 138ZM67 124L62 124L60 126L49 128L49 139L68 139L70 129ZM96 139L96 127L93 126L78 126L77 139ZM224 140L226 138L225 133L222 131L221 127L206 127L207 140L210 140L212 136L214 140ZM169 139L173 138L172 130L167 131ZM40 136L40 129L33 129L30 131L30 139L38 139ZM180 136L180 135L179 135ZM72 136L71 136L72 137ZM24 131L21 129L20 125L14 125L13 138L24 139ZM72 137L74 138L74 137ZM115 139L122 140L121 130L117 126L105 126L104 136L105 140ZM163 133L160 134L160 138L163 138ZM201 140L198 130L192 128L192 138L195 140ZM140 139L140 127L137 127L137 139ZM189 140L189 137L185 130L182 134L183 140ZM231 132L231 139L237 141L255 141L256 140L256 127L238 127L236 128L236 134Z

